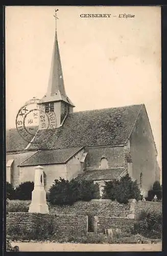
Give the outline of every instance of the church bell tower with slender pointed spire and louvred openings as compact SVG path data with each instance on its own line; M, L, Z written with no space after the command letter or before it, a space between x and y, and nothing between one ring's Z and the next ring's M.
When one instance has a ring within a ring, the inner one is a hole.
M56 127L60 127L66 116L73 112L73 108L75 105L70 101L67 97L65 88L64 88L64 80L63 80L63 73L61 67L61 60L60 60L60 53L59 53L59 46L58 46L58 39L57 39L57 11L55 10L55 19L56 19L56 31L55 31L55 42L54 42L54 49L52 55L52 62L51 62L51 71L49 77L49 83L47 87L47 92L44 97L38 103L39 109L42 113L56 117ZM51 129L55 128L55 125ZM39 121L39 130L45 129L42 126L41 119Z

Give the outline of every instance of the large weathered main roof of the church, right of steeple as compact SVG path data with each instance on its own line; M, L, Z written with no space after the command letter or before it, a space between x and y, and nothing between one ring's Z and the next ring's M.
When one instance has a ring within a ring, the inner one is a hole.
M142 106L71 113L61 127L39 130L29 150L125 144Z

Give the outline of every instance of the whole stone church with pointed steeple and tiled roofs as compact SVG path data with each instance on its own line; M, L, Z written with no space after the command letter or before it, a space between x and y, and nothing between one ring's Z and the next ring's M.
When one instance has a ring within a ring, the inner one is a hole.
M67 65L67 64L66 64ZM7 181L14 187L34 181L35 167L44 170L48 191L55 179L98 182L127 173L146 195L160 179L157 150L144 104L74 112L65 92L57 32L47 92L38 102L41 113L54 113L56 125L39 122L31 142L16 129L6 131Z

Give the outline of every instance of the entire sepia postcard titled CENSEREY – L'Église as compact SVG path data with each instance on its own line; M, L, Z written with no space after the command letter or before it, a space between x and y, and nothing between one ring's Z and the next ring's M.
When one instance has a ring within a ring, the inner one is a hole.
M6 250L161 251L161 7L7 6Z

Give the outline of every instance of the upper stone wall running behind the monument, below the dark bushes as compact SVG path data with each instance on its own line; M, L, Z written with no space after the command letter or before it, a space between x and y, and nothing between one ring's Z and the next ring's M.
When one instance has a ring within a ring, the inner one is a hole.
M31 201L10 200L7 211L28 212L30 203ZM79 201L74 203L74 205L48 205L51 214L128 217L135 213L133 200L129 200L128 204L120 204L107 199L98 199L89 202Z

